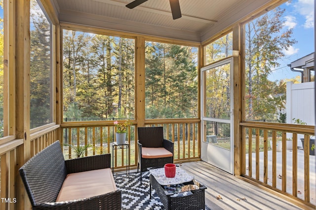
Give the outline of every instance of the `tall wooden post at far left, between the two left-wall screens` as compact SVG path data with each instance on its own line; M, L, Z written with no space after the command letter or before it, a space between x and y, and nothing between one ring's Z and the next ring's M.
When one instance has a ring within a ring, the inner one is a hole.
M16 196L17 209L30 209L30 201L18 169L31 158L30 140L30 0L16 0L16 137L24 139L24 144L17 148L16 153Z

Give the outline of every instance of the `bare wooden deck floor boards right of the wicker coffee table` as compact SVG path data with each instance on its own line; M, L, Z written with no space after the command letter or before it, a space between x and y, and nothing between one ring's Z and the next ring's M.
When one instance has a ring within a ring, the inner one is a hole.
M301 210L300 207L204 161L182 163L180 167L207 187L205 204L212 210ZM217 196L222 199L217 199Z

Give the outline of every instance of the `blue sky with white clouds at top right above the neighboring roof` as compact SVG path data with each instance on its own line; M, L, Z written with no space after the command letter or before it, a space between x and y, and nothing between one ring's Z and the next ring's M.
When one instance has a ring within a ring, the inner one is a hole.
M271 80L291 79L300 75L292 72L287 64L315 52L314 4L314 0L292 0L281 5L286 9L285 27L293 29L293 38L297 43L284 51L286 58L279 60L280 66L269 77Z

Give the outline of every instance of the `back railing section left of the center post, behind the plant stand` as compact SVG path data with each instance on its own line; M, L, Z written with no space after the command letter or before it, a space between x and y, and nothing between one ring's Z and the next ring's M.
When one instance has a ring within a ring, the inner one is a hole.
M135 167L136 159L136 133L135 125L128 127L126 141L129 143L130 166ZM83 156L95 154L112 153L112 143L116 141L114 123L108 121L94 122L68 122L62 125L63 153L65 159L78 157L79 152ZM126 149L115 150L115 169L122 169L126 166Z

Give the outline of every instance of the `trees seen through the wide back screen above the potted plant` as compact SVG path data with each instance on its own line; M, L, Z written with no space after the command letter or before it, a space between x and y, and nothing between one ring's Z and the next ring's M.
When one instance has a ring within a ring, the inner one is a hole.
M63 34L66 116L133 118L134 40L71 30Z

